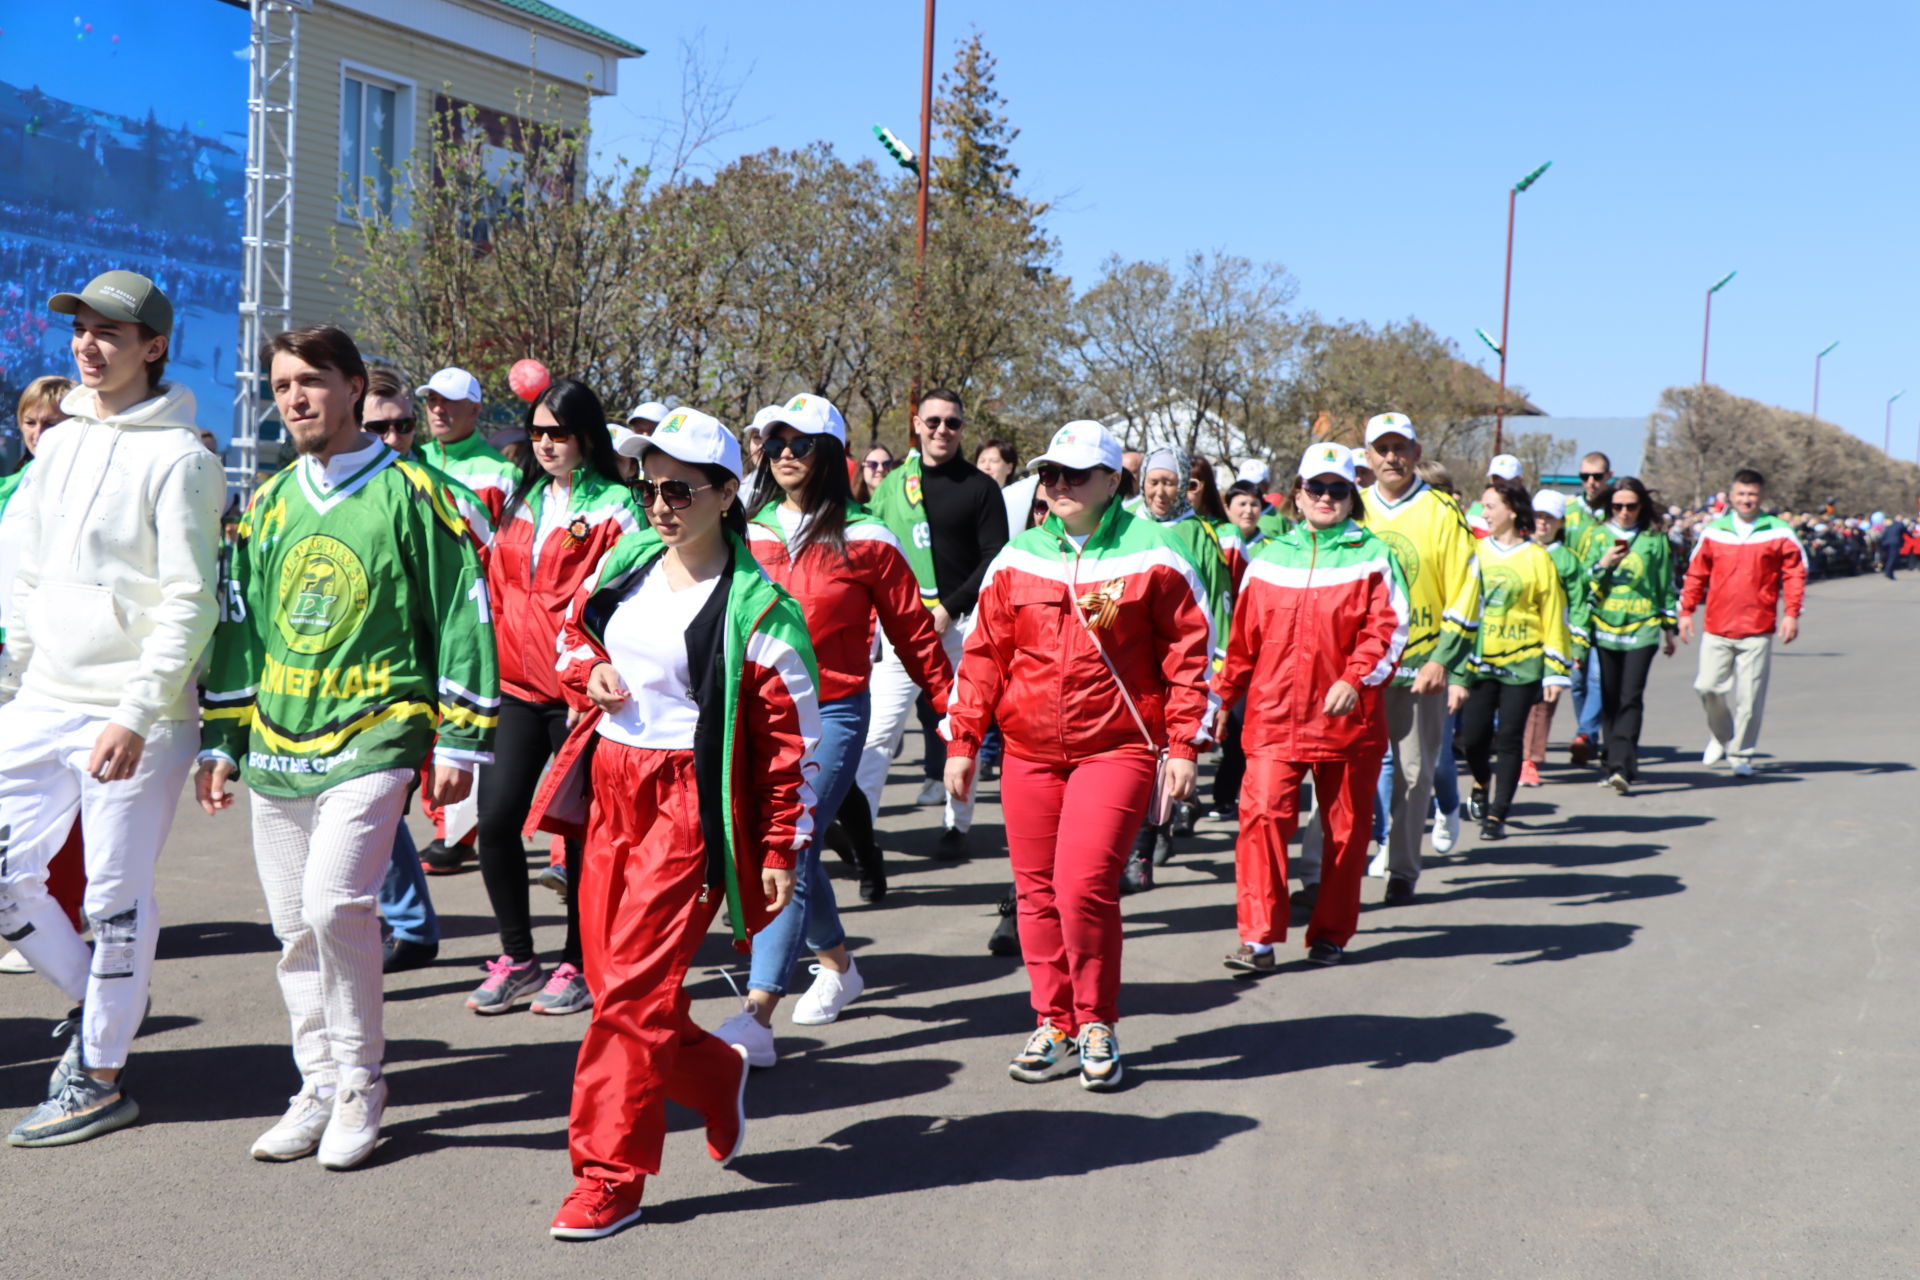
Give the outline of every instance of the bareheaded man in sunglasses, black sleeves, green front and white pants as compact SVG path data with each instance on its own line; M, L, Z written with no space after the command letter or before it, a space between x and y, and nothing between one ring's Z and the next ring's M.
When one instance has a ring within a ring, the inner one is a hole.
M914 438L920 447L906 455L904 466L889 472L870 503L906 553L906 564L920 583L920 603L933 612L933 629L947 649L947 660L954 664L960 662L960 649L973 626L973 604L987 564L1006 545L1006 505L1000 487L960 455L960 432L966 430L966 418L960 415L958 391L937 388L922 395L914 411ZM920 700L920 689L908 676L906 664L885 639L868 689L874 710L854 781L877 812L887 766L906 731L906 718ZM933 768L937 764L937 760L927 762L929 779L941 771ZM941 783L931 781L925 791L929 802L939 802L939 789ZM948 794L945 810L939 856L966 858L968 831L973 827L973 796Z

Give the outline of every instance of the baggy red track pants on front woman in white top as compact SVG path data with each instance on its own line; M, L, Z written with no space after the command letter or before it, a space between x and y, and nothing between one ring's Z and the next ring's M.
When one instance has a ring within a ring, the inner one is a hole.
M699 1115L733 1105L733 1048L693 1025L684 988L726 900L707 881L691 750L601 739L580 856L580 948L593 1017L574 1069L574 1176L632 1182L660 1171L666 1100Z

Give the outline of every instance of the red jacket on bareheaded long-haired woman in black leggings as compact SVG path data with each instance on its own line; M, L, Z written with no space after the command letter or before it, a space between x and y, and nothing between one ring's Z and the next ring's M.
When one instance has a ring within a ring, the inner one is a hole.
M622 537L645 524L634 493L593 472L576 470L570 518L547 533L534 562L540 512L553 497L545 480L515 505L505 528L493 533L486 566L493 601L493 635L499 643L499 689L522 702L559 702L561 620L586 576Z

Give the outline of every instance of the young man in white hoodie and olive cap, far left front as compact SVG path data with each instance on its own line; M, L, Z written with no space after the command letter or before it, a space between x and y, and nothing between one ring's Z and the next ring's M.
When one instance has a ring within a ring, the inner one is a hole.
M12 1146L131 1125L121 1084L146 1015L159 919L154 865L194 764L194 668L213 635L227 478L167 388L173 305L131 271L48 307L73 317L81 386L13 495L19 547L0 656L0 936L69 1000L77 1029L48 1100ZM86 950L46 892L79 814Z

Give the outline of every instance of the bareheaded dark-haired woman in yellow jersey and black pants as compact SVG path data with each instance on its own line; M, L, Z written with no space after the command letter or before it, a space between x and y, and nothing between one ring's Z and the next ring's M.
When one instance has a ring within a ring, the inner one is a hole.
M1546 547L1532 541L1534 503L1526 487L1519 480L1492 480L1480 495L1480 510L1486 518L1480 629L1473 651L1461 654L1450 672L1448 710L1459 716L1480 839L1500 841L1521 781L1526 718L1536 702L1551 706L1572 683L1572 637L1559 566Z

